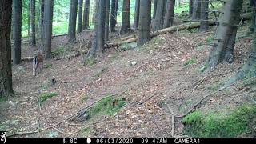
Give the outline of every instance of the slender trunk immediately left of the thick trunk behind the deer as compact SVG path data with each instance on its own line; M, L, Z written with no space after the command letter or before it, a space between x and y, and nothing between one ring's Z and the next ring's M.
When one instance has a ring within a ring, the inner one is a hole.
M40 39L41 39L41 45L39 47L40 50L42 50L42 46L43 46L43 29L44 29L44 10L45 10L45 1L44 0L40 0ZM42 50L43 51L43 50Z

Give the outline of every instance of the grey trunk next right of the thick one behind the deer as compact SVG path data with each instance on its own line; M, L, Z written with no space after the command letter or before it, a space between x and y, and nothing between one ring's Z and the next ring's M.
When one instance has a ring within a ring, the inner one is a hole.
M75 29L77 23L77 14L78 14L78 0L70 0L70 18L69 18L69 42L74 42L75 38Z

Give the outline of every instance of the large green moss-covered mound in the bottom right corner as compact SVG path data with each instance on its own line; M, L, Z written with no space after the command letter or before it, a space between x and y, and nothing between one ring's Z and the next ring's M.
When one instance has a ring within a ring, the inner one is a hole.
M256 127L256 105L243 105L235 110L194 111L182 119L184 133L192 137L238 137ZM253 133L252 133L253 134Z

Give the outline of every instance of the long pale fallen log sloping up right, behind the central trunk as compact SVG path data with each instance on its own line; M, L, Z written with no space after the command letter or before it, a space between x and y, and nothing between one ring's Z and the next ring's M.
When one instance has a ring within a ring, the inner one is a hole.
M251 13L242 14L241 18L242 18L242 21L250 20ZM218 22L209 21L208 23L209 23L209 26L215 26L215 25L217 25ZM195 28L199 28L199 27L200 27L200 22L183 23L181 25L171 26L171 27L168 27L166 29L154 31L151 34L151 38L156 37L156 36L158 36L160 34L174 33L177 30L178 31L190 30L190 29L195 29ZM130 36L127 36L126 38L128 38L128 39L126 39L124 41L110 42L110 43L108 43L108 46L110 46L110 47L112 47L112 46L120 46L120 45L122 45L124 43L136 42L137 41L136 34L132 35L132 36L133 36L133 38L130 38ZM122 39L124 39L124 38L122 38Z

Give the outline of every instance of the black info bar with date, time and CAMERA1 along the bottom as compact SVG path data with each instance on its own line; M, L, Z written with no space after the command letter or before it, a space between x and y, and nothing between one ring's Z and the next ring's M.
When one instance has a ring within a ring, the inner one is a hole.
M0 143L56 143L56 144L187 144L187 143L255 143L256 138L1 138Z

